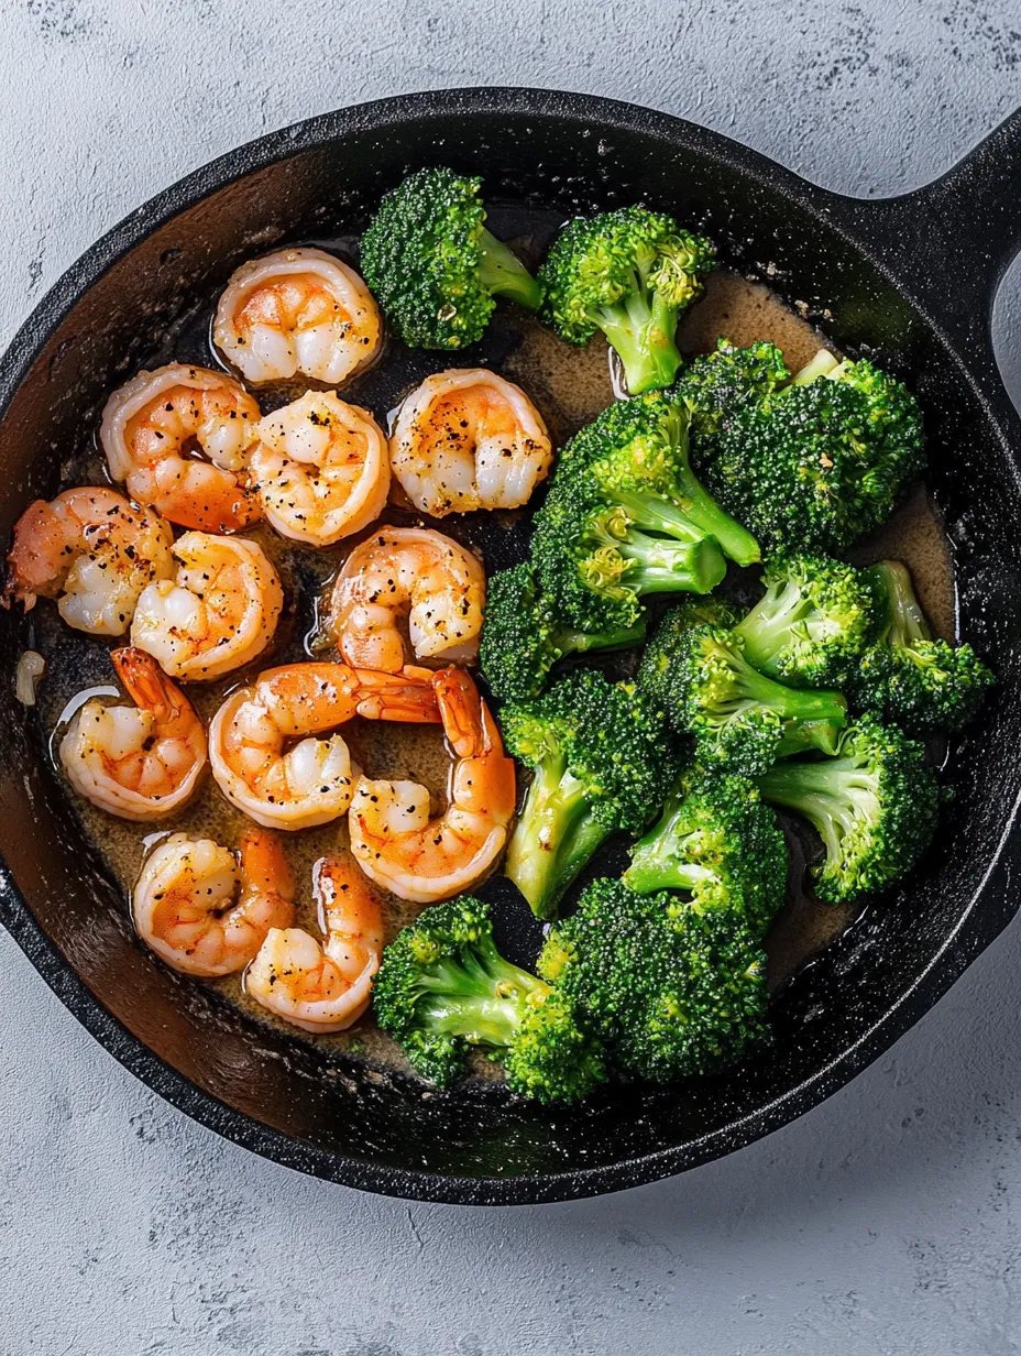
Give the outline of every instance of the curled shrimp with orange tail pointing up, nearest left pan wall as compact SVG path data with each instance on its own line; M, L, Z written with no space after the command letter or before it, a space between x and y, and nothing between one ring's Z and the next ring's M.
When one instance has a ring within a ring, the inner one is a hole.
M68 781L119 819L163 819L191 800L206 766L206 732L176 683L141 650L110 656L134 706L87 701L61 739Z

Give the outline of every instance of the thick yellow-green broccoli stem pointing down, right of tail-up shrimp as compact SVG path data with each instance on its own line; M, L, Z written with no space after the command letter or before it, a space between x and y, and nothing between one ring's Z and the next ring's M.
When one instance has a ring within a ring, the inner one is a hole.
M537 918L550 919L561 895L607 833L593 818L582 782L560 759L546 759L536 769L511 834L504 875Z

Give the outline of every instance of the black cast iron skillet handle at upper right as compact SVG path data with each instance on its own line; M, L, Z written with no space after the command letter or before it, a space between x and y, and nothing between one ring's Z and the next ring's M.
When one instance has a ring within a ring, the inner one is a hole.
M837 214L933 319L987 332L1021 251L1021 108L942 178L899 198L842 198Z

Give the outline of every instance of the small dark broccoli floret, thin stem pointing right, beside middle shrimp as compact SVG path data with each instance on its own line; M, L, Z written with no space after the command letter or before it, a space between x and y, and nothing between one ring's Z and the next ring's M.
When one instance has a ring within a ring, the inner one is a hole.
M534 568L513 565L489 576L479 663L494 696L527 701L542 692L549 670L564 655L622 650L644 637L644 620L595 632L559 621L540 593Z

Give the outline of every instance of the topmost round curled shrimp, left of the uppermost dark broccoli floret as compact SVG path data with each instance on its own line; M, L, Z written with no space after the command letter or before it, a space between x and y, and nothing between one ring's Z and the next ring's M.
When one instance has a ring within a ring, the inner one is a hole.
M376 357L380 308L362 279L323 250L279 250L232 274L213 343L245 381L311 377L336 385Z

